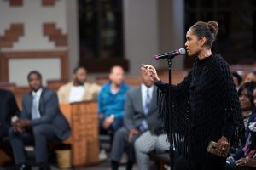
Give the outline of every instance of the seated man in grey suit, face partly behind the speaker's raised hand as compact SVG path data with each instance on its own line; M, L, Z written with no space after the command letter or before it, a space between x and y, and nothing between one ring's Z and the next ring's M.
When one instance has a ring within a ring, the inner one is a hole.
M141 72L142 84L129 90L125 99L125 127L120 128L114 136L111 152L112 169L119 168L123 151L128 156L128 164L126 169L132 169L135 162L134 142L140 139L143 133L154 134L157 138L163 133L161 128L161 120L158 115L156 105L156 88L154 82L151 82L148 75ZM163 136L163 147L168 150L169 144L166 142L166 135ZM153 143L153 139L150 139ZM144 141L149 146L148 141ZM156 142L155 142L156 144ZM154 149L153 144L150 149ZM148 148L148 150L150 150ZM148 163L148 162L147 162Z

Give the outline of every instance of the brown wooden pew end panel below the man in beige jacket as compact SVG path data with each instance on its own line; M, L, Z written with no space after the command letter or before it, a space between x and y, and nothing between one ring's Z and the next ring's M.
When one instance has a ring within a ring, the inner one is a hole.
M63 143L71 144L73 166L97 163L99 161L97 102L61 104L60 108L72 129L72 135Z

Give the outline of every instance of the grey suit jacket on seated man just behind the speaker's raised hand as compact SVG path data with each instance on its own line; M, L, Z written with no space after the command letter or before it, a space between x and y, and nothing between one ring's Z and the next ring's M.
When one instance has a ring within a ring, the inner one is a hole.
M139 85L137 88L129 90L126 94L124 117L125 127L128 129L137 128L141 125L143 119L146 119L149 130L152 133L161 134L163 133L163 128L156 103L157 88L154 87L150 108L147 116L145 116L143 111L141 87L142 86Z

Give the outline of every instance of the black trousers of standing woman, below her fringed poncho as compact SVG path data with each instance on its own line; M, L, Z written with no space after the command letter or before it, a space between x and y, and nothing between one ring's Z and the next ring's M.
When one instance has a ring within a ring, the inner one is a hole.
M202 159L203 158L203 159ZM195 159L196 160L196 159ZM192 166L189 165L189 161L183 156L177 156L174 169L175 170L224 170L225 158L214 156L210 153L205 153L204 156L198 158L201 161L192 162Z

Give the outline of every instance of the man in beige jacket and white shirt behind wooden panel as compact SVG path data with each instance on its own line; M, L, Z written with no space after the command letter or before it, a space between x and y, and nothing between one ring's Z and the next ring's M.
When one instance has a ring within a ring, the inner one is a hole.
M77 67L73 71L73 81L61 86L58 98L61 104L96 100L101 87L96 83L86 82L87 71Z

